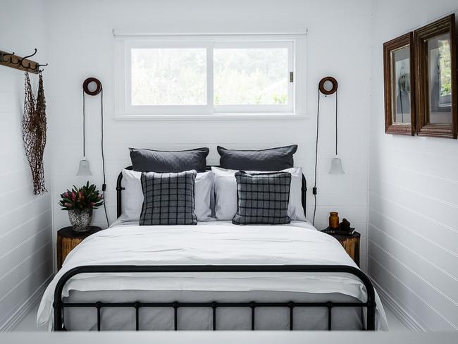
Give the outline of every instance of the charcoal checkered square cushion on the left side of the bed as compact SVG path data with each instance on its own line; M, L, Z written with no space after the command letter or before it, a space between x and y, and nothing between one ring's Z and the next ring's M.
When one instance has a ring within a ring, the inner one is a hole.
M140 226L195 225L194 180L197 172L143 172Z

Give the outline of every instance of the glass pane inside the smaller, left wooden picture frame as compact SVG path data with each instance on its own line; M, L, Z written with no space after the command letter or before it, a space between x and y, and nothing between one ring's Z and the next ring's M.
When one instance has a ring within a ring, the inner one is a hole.
M410 124L410 45L391 51L392 123Z

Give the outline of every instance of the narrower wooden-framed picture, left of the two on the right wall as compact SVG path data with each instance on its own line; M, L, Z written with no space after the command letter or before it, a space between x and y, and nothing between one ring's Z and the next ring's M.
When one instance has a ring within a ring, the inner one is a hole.
M415 133L414 39L412 32L383 44L385 133Z

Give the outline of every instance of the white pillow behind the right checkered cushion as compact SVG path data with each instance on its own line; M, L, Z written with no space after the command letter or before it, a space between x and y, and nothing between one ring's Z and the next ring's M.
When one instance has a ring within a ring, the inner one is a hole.
M215 216L218 220L232 220L237 212L237 181L236 170L221 167L211 167L215 173ZM261 171L247 171L248 173L263 173ZM287 215L291 220L305 221L302 207L302 167L293 167L282 170L291 173L290 204ZM266 173L264 171L264 173Z

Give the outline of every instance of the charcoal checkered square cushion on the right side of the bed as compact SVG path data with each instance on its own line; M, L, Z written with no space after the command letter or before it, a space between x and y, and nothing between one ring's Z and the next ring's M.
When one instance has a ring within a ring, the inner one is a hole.
M237 180L237 213L235 225L290 223L291 173L235 173Z

